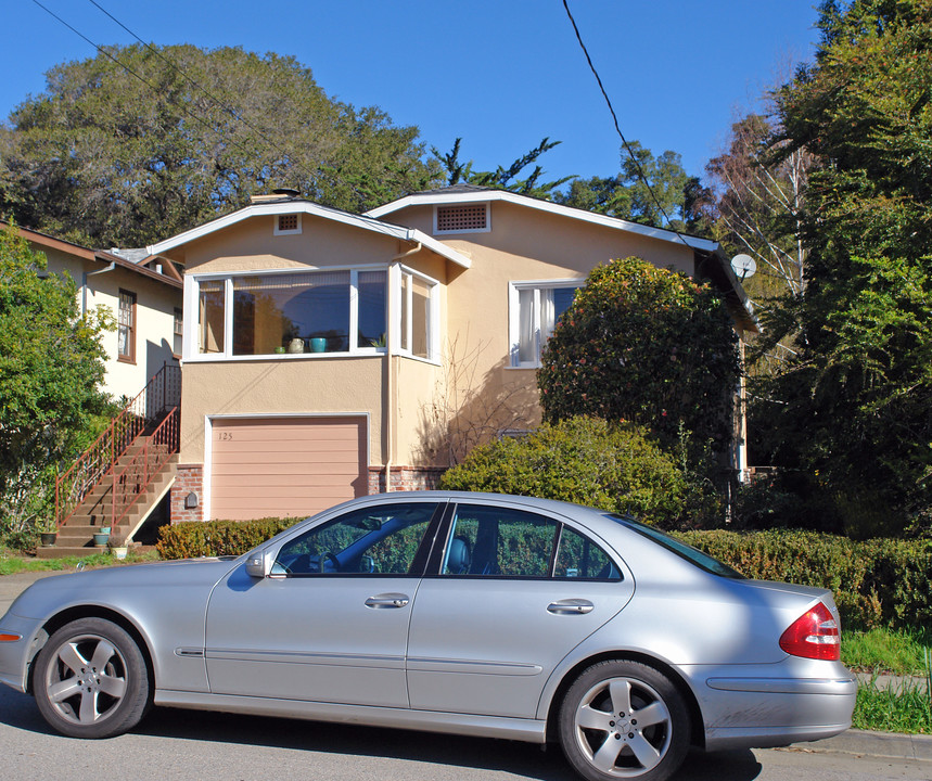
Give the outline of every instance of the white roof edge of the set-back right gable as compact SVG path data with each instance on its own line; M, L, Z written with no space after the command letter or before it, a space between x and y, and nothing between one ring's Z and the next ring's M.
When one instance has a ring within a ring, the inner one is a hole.
M718 248L718 242L710 241L708 239L700 239L699 236L677 233L676 231L667 230L666 228L652 228L651 226L640 225L639 222L630 222L617 217L609 217L596 212L587 212L586 209L576 208L575 206L563 206L562 204L553 203L552 201L544 201L541 199L531 197L529 195L521 195L509 190L495 190L493 188L482 188L474 184L454 184L439 190L424 190L422 192L411 193L397 201L376 206L366 213L369 217L381 218L385 215L398 212L408 206L441 206L447 204L461 203L486 203L490 201L503 201L506 203L525 206L527 208L538 209L548 214L577 219L583 222L591 222L605 228L627 231L628 233L637 233L638 235L659 239L674 243L682 243L690 249L701 249L704 252L715 252Z

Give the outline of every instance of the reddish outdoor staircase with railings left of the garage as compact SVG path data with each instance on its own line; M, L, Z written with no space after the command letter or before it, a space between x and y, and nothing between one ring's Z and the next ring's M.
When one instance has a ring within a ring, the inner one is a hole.
M98 552L93 535L128 541L175 482L181 372L166 364L55 483L58 539L40 559ZM125 542L124 542L125 543Z

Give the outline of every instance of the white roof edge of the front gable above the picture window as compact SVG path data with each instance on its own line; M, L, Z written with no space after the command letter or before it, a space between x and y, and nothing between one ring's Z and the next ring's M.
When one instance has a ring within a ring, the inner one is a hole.
M320 204L298 197L269 199L250 204L248 206L225 215L224 217L218 217L217 219L205 222L196 228L178 233L170 239L165 239L156 244L150 244L145 249L150 257L162 255L175 247L181 246L182 244L209 235L210 233L215 233L232 225L242 222L243 220L251 219L252 217L281 214L307 214L314 217L320 217L333 222L340 222L361 230L392 236L393 239L409 242L411 244L421 244L435 254L455 263L457 266L461 266L462 268L468 269L471 265L470 259L465 255L448 247L446 244L438 242L436 239L429 236L426 233L423 233L416 228L405 228L403 226L392 225L391 222L383 222L367 215L355 215L349 212L331 208L330 206L321 206Z

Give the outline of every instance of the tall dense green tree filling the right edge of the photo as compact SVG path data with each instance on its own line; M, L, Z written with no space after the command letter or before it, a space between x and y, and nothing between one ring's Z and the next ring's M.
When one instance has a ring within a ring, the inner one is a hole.
M857 534L932 514L932 3L820 7L816 62L777 95L806 150L804 294L765 321L797 355L767 390L778 463Z

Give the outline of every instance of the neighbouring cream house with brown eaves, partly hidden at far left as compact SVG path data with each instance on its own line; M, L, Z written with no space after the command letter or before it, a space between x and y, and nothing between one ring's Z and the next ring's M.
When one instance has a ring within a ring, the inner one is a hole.
M5 222L0 228L11 230ZM132 398L166 363L181 356L181 277L149 268L113 252L16 227L29 246L43 254L48 273L67 271L78 289L81 313L107 307L117 330L103 335L106 374L103 389L114 399Z

